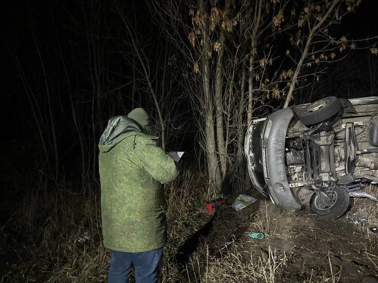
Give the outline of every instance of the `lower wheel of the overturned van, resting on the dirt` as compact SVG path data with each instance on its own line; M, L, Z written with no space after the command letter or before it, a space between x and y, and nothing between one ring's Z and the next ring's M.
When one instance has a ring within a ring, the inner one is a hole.
M310 208L319 219L336 219L347 212L349 193L339 186L335 187L331 198L327 198L324 193L314 192Z

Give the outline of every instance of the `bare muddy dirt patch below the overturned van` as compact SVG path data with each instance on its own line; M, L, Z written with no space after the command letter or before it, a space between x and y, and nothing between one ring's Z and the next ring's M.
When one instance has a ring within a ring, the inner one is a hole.
M272 204L263 206L272 210ZM261 254L269 258L270 250L278 256L285 254L282 276L289 282L303 282L309 273L322 275L331 268L331 276L341 282L378 282L376 236L367 238L345 217L317 220L307 213L273 213L269 224L272 234L262 240L245 236L245 247L252 251L252 257Z

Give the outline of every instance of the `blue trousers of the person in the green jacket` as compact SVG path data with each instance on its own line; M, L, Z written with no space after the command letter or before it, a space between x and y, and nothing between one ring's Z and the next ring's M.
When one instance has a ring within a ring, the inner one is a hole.
M134 266L136 283L156 283L159 280L162 255L163 248L141 253L113 251L107 281L108 283L128 282L131 268Z

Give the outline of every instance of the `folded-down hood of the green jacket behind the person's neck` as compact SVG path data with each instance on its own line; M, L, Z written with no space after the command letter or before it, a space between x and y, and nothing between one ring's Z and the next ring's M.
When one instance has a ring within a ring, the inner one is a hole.
M121 115L111 117L98 142L100 151L109 151L132 132L134 134L143 132L135 120Z

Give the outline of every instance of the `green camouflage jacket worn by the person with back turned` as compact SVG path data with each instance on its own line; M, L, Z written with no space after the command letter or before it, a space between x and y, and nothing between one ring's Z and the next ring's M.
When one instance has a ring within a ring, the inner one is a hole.
M121 252L159 249L166 240L167 209L161 184L172 182L178 170L154 137L135 130L132 119L121 120L124 133L99 144L104 246Z

